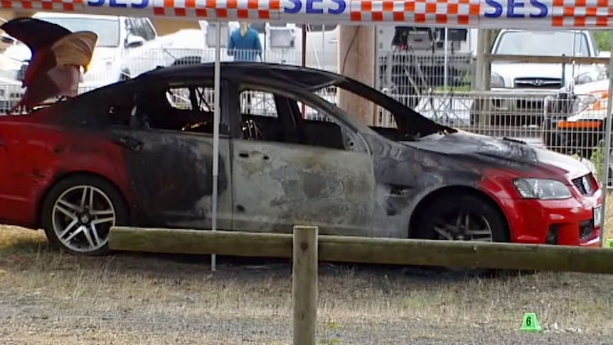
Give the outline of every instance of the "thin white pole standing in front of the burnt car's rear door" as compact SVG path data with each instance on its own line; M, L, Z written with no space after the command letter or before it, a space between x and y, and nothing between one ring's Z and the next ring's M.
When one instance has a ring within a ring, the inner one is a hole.
M211 231L217 230L217 189L218 189L218 176L219 176L219 118L220 113L220 92L221 92L221 25L217 21L217 37L215 38L215 95L213 104L213 218L211 220ZM215 254L210 255L210 270L215 271L217 257Z

